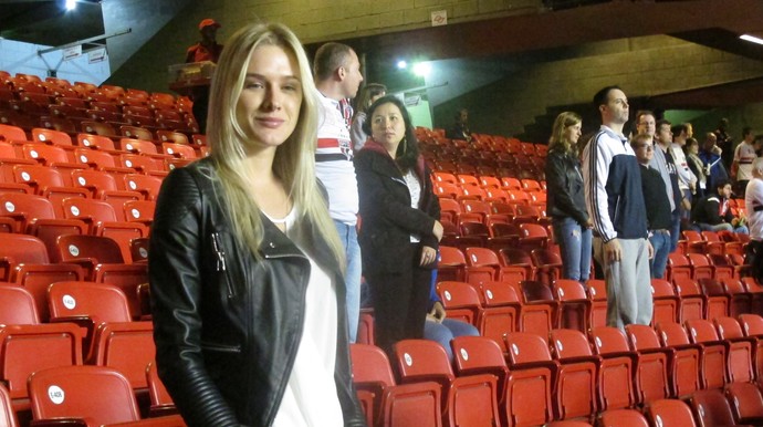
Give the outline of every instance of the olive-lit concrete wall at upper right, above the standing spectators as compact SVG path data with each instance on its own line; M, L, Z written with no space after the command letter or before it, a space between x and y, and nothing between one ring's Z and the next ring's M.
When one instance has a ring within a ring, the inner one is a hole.
M449 126L453 112L466 106L472 132L516 135L546 108L588 104L596 91L610 84L620 85L629 98L637 98L763 75L760 61L668 35L575 49L579 50L577 58L525 64L499 82L436 107L435 125ZM728 114L754 121L749 114Z

